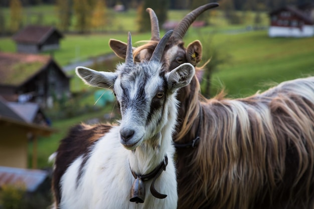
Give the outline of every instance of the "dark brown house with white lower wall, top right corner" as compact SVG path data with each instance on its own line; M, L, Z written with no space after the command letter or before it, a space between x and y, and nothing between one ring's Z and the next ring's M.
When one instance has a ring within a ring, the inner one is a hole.
M269 37L311 37L314 36L314 21L306 8L302 10L285 6L272 11L270 15Z

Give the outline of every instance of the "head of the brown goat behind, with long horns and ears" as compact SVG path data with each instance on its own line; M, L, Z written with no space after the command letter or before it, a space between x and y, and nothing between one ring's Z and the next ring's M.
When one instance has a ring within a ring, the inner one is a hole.
M201 6L188 15L178 24L175 28L173 35L171 36L169 43L166 46L163 60L168 67L172 70L181 65L182 63L191 63L196 66L202 59L202 44L200 41L196 40L188 45L187 48L184 47L183 37L187 32L190 25L195 21L195 19L202 14L204 11L218 7L217 3L210 3ZM155 16L153 10L148 8L146 10L150 15L151 22L151 39L148 44L140 46L138 48L133 48L134 51L134 61L139 62L143 60L149 60L155 46L158 44L159 38L159 26L158 19ZM125 58L126 43L118 40L110 39L109 46L113 52L120 58Z

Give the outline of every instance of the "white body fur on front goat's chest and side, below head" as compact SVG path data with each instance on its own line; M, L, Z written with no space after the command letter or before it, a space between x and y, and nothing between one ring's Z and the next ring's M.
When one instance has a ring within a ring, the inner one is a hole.
M75 176L77 176L82 158L77 158L69 166L61 179L61 208L177 208L174 148L170 145L163 150L168 154L169 164L166 171L163 171L155 182L156 190L168 196L165 199L152 196L149 190L152 180L148 180L144 182L146 190L144 203L130 202L130 188L134 177L129 166L141 169L142 164L159 164L160 161L159 157L156 159L156 156L147 156L143 152L142 149L149 149L149 147L138 147L135 154L126 150L119 143L118 135L119 127L113 127L95 144L86 163L86 170L81 177L82 181L77 188ZM169 139L171 140L171 136Z

